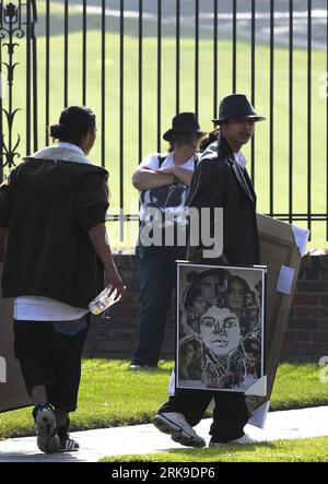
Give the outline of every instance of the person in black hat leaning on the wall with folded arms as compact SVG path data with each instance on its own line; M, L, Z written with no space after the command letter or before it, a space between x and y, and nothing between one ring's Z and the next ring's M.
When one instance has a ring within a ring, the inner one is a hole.
M132 175L132 184L140 191L140 231L136 250L140 315L138 347L133 353L131 369L156 367L159 363L175 285L175 260L185 259L186 256L185 246L167 245L165 232L171 231L172 225L176 229L179 223L202 134L194 113L176 115L172 128L163 134L163 139L169 143L168 152L147 156ZM167 221L167 214L173 216L173 221ZM153 234L155 224L161 227L159 244L144 237Z

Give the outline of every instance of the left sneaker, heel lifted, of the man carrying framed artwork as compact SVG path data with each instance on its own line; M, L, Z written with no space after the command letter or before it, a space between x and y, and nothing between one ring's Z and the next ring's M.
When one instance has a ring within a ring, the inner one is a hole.
M206 441L196 434L181 413L159 413L153 418L153 424L163 434L169 434L172 440L186 447L204 447Z

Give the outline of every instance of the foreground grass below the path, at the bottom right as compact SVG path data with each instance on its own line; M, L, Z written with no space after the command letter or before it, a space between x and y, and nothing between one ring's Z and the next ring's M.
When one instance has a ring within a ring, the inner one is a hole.
M327 462L328 437L113 456L102 462Z

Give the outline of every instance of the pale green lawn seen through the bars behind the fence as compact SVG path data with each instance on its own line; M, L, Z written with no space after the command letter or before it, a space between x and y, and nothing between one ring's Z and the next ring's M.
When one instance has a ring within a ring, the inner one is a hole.
M44 11L45 1L38 4L38 113L39 113L39 145L45 141L45 49ZM82 99L82 14L70 7L69 36L69 92L68 103L80 104ZM101 19L87 15L86 40L86 104L98 115L101 121ZM119 180L124 182L125 213L138 213L138 192L131 187L131 174L139 164L138 146L138 20L127 20L124 40L124 151L120 151L119 131L119 34L118 20L107 19L106 35L106 128L98 130L98 140L92 152L95 163L101 161L101 141L105 137L105 165L110 173L112 205L109 213L119 213ZM167 31L165 31L167 29ZM162 39L162 94L161 94L161 126L164 132L171 126L175 115L175 51L176 42L173 26L163 26L165 35ZM51 39L50 39L50 121L57 122L58 114L63 107L63 8L51 3ZM144 21L145 36L143 38L143 90L142 90L142 156L156 151L157 137L157 40L153 27ZM16 114L13 130L23 133L19 151L25 153L25 50L19 46L15 49L15 61L20 62L14 75L14 108L22 107ZM199 120L204 130L212 128L213 116L213 49L212 40L201 36L199 45L200 78L199 78ZM269 48L258 44L256 47L256 109L269 116ZM219 40L218 88L219 97L231 93L232 80L232 43L229 39ZM5 56L3 54L3 61ZM305 212L307 209L307 54L304 49L295 49L293 58L293 211ZM326 72L326 52L313 50L312 56L312 110L313 110L313 143L311 205L314 213L326 212L326 102L319 95L323 84L320 74ZM289 208L289 51L285 48L274 49L274 126L273 126L273 193L274 212L286 212ZM250 96L250 43L237 43L237 92ZM195 39L192 32L186 32L180 40L180 106L183 110L194 110L195 105ZM206 75L203 73L206 72ZM5 88L4 88L5 95ZM4 98L4 107L8 95ZM5 127L4 127L5 128ZM99 128L99 126L98 126ZM7 131L7 129L4 129ZM15 137L14 137L15 140ZM165 150L162 143L161 150ZM249 158L249 146L245 149ZM120 168L122 161L122 169ZM269 212L269 122L257 125L255 138L255 187L258 194L258 211ZM295 225L304 226L296 222ZM137 238L138 224L126 224L125 239L119 238L119 227L116 223L108 224L112 245L115 247L132 247ZM311 247L325 247L326 227L323 222L313 224L313 240Z

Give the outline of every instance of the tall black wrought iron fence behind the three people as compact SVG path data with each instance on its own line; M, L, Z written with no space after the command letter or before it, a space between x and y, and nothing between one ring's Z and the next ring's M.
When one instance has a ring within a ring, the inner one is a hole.
M113 174L119 208L108 220L138 220L131 170L163 150L171 118L195 110L209 130L220 98L245 92L268 118L247 153L259 211L325 226L328 240L328 0L26 0L0 9L1 178L50 142L46 127L62 107L95 105L95 158Z

